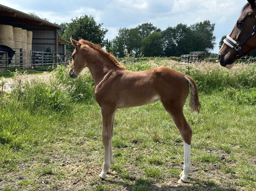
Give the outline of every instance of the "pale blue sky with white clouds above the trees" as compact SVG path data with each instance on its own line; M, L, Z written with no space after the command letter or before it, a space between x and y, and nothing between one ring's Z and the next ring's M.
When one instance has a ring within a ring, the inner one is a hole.
M69 2L69 3L68 3ZM135 28L143 23L165 30L182 23L190 26L209 20L215 24L216 45L230 34L245 0L1 0L0 4L24 13L34 12L51 23L70 23L71 19L88 15L108 29L105 39L113 40L120 28Z

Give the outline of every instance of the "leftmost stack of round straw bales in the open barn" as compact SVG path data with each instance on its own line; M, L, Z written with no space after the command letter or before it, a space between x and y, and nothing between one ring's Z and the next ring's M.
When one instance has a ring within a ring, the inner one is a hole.
M14 48L13 27L11 25L0 25L0 45Z

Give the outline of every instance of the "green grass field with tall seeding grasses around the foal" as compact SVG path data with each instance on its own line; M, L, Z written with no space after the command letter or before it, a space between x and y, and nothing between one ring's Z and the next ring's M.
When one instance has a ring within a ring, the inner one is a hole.
M114 163L98 178L104 149L101 110L88 71L68 77L63 66L47 78L16 73L13 92L0 94L0 190L167 191L256 190L256 67L181 65L155 58L128 70L168 66L190 75L201 111L185 117L193 129L188 183L179 131L160 102L119 109Z

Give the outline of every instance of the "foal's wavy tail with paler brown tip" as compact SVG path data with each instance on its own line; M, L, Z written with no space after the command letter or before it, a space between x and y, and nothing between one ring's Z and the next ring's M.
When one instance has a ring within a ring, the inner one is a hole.
M198 89L197 85L195 83L195 80L191 78L190 76L184 75L185 79L187 80L188 84L190 85L190 96L189 96L189 107L191 112L197 112L199 113L199 110L201 108L201 104L199 102L198 98Z

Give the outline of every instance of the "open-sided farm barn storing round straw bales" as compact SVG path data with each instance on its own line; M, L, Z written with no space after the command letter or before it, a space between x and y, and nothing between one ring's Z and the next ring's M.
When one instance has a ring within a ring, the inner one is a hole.
M7 54L0 61L0 69L9 66L32 68L66 62L66 40L58 39L62 27L0 4L0 45L13 49L11 64Z

